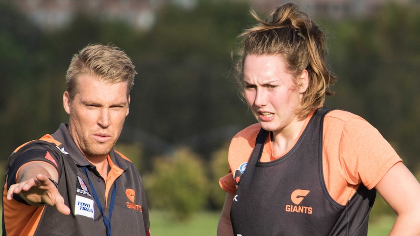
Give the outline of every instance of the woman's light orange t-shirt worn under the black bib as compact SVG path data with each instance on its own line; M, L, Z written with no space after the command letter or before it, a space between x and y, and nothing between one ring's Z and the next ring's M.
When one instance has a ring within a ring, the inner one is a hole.
M305 125L294 144L300 138L312 115L313 111L306 118ZM259 124L254 124L233 137L228 154L229 173L219 180L221 188L226 192L232 194L236 192L234 174L231 170L240 169L239 166L242 163L248 162L260 128ZM284 154L274 157L270 138L267 138L260 162L270 162L281 158ZM398 162L401 162L401 158L391 145L375 127L360 116L344 110L332 110L325 115L324 180L328 193L338 203L345 205L361 182L368 189L374 188L386 172Z

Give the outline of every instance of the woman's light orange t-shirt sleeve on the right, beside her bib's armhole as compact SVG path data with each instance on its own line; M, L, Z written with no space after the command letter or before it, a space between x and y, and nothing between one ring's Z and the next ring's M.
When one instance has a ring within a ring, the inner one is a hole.
M333 110L325 116L323 171L330 196L345 204L360 183L372 189L401 158L360 116Z

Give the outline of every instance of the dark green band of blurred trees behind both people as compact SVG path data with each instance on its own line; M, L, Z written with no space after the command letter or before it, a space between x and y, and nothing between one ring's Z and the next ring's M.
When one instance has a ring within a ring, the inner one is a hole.
M199 0L195 8L166 5L147 32L121 21L79 15L65 28L40 31L0 5L1 151L56 130L68 63L89 43L115 43L133 59L136 77L121 142L141 142L144 156L188 145L209 160L235 132L255 122L228 77L236 36L254 21L249 5ZM369 18L326 19L337 94L327 100L366 118L413 169L420 131L420 10L385 5ZM129 131L142 133L133 140ZM124 135L124 134L129 135ZM140 135L141 136L141 135ZM150 151L147 141L160 142ZM148 164L150 158L145 158Z

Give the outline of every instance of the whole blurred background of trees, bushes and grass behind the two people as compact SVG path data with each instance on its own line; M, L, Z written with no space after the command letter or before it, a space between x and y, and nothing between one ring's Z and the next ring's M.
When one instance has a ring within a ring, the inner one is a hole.
M0 0L0 162L66 123L73 54L113 43L138 75L115 149L137 166L152 232L215 235L227 149L255 123L229 76L237 36L283 0ZM328 34L326 105L361 115L420 177L420 0L295 0ZM3 168L0 173L4 172ZM369 235L395 214L378 197Z

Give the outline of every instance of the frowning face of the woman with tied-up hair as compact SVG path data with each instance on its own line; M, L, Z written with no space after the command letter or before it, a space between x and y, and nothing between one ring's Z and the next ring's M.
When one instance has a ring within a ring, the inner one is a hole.
M307 88L307 72L296 79L301 86L295 86L281 54L251 54L245 58L245 98L264 129L274 134L287 132L299 121L295 111Z

